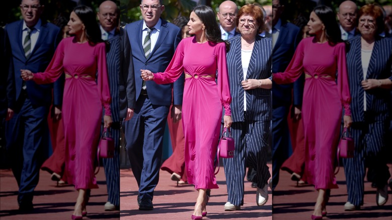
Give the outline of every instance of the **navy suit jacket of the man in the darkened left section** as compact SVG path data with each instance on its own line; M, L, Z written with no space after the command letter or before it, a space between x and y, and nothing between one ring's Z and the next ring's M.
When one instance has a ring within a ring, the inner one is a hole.
M25 57L25 51L22 45L22 27L23 20L13 22L6 26L6 32L10 39L12 49L13 66L10 67L10 74L13 74L15 80L16 96L18 100L22 92L22 78L21 69L31 70L33 73L44 72L53 54L56 50L58 43L61 40L61 30L57 26L42 21L40 34L36 45L28 59ZM54 85L54 86L53 86ZM50 84L36 84L33 80L26 81L27 95L29 96L33 105L50 105L52 101L52 88L53 90L53 104L61 106L63 81L61 77L55 82ZM11 93L11 90L7 90Z

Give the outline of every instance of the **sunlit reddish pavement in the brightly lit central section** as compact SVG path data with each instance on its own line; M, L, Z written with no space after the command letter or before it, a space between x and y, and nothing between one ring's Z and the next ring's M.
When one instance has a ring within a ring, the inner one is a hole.
M268 164L271 172L271 164ZM224 211L227 201L226 178L223 167L217 175L219 189L211 190L207 217L203 219L272 219L271 199L264 206L256 205L256 189L245 181L244 206L239 211ZM268 188L269 190L269 188ZM269 190L269 198L271 191ZM192 185L176 186L166 171L159 173L159 183L154 191L154 210L140 211L137 205L138 187L132 171L120 171L121 219L190 219L197 191Z

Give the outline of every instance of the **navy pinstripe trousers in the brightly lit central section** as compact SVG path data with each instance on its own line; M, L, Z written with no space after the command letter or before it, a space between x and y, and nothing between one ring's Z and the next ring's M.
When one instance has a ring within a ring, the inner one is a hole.
M228 201L242 205L246 165L256 170L252 182L263 188L271 176L267 166L267 147L270 145L270 121L235 122L231 133L235 142L233 158L224 158Z

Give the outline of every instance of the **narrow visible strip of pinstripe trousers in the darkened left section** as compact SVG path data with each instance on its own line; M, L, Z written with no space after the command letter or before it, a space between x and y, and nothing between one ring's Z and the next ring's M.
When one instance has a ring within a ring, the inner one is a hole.
M120 206L120 129L111 129L115 141L113 158L103 158L106 185L108 188L108 201Z

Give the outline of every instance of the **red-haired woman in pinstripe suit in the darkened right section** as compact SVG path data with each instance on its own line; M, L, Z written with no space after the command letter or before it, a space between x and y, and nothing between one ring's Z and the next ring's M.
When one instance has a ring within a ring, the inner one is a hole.
M377 185L376 203L388 199L386 166L387 131L391 117L392 41L378 36L383 30L382 12L377 6L366 5L358 12L361 36L350 40L347 70L351 93L354 158L343 159L348 199L345 210L363 205L365 163L374 170Z

